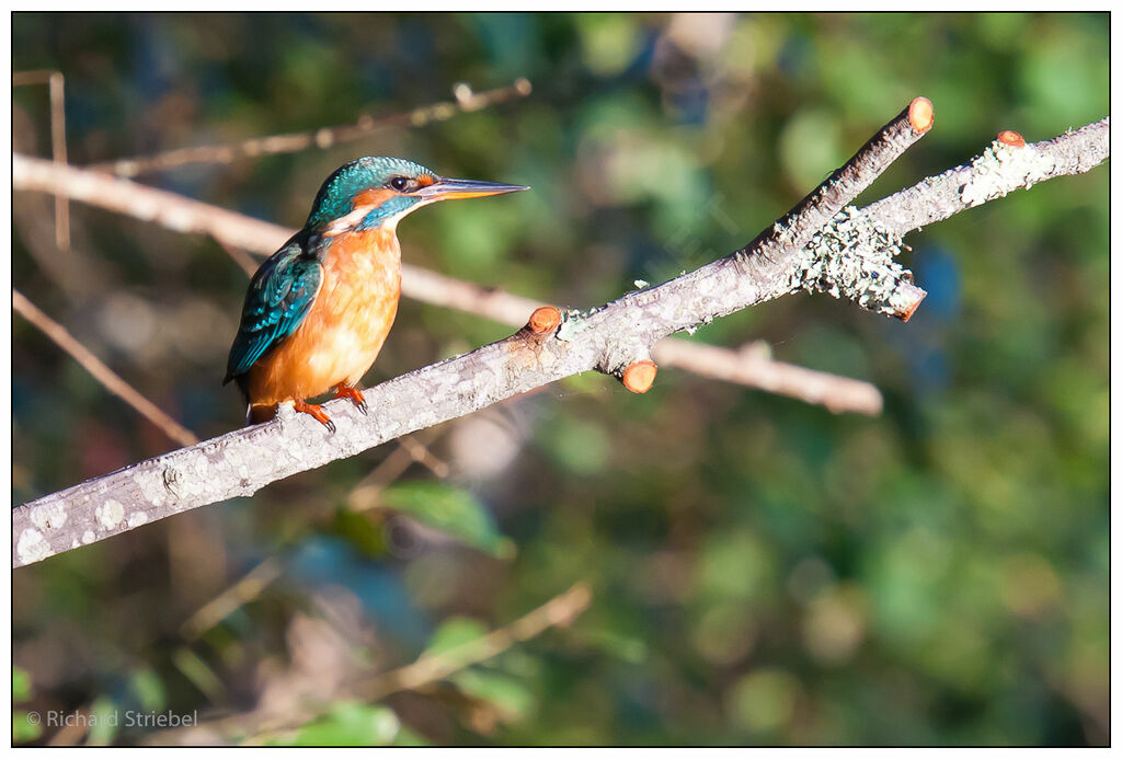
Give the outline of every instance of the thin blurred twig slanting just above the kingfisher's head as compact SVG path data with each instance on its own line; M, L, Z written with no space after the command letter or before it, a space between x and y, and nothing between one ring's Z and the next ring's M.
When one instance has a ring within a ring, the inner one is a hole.
M456 96L454 101L441 101L405 113L394 113L380 118L364 114L356 123L341 127L322 127L306 132L255 137L234 145L206 145L167 150L153 156L118 158L117 160L93 164L90 168L111 172L122 177L135 177L149 172L162 172L190 164L230 164L238 158L275 156L313 147L324 149L333 145L369 137L378 129L421 127L434 121L445 121L457 113L478 111L515 98L525 98L532 90L533 87L526 78L519 78L509 86L487 90L486 92L472 92L470 86L460 83L452 90Z

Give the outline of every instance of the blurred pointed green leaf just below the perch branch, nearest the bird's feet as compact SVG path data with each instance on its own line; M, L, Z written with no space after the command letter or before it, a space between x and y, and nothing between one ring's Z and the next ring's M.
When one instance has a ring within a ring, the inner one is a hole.
M507 557L514 552L487 507L466 490L443 482L402 482L387 488L381 501L491 556Z

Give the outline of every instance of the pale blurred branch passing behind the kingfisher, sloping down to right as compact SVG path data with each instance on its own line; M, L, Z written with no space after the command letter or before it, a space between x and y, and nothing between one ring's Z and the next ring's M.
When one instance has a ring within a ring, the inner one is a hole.
M63 193L72 200L108 209L144 221L154 222L177 232L206 234L231 254L249 272L256 266L245 256L232 251L249 250L268 256L291 238L295 230L245 216L183 195L117 179L99 172L73 166L55 167L48 161L18 154L12 155L12 187L16 189ZM522 326L526 314L543 305L540 300L488 289L442 274L402 265L402 294L406 297L447 308L476 314L511 326ZM672 348L655 352L662 363L684 369L710 379L726 379L747 387L790 395L807 402L821 402L831 411L881 413L880 391L867 382L815 374L815 387L803 386L809 377L799 367L762 361L746 362L737 353L708 345L670 339ZM788 368L791 371L788 371Z

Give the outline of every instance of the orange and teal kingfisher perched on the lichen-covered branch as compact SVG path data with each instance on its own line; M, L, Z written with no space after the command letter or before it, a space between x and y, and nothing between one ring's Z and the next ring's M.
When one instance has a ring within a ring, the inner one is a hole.
M357 387L397 314L402 251L397 222L438 201L530 189L451 179L402 158L367 156L320 187L304 228L249 283L226 379L245 396L246 423L272 419L291 401L329 431L310 398L334 390L367 413Z

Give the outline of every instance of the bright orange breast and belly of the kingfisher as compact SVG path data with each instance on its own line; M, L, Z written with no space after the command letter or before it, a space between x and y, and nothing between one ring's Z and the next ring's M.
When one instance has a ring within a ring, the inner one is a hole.
M305 400L340 383L357 385L378 358L401 291L402 254L394 231L334 238L304 321L250 368L250 404Z

